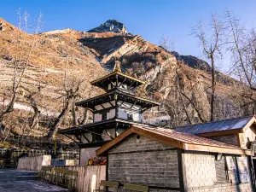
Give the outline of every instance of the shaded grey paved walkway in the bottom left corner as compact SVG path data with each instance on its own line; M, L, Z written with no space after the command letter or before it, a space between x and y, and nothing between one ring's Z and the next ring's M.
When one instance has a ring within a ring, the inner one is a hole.
M0 192L67 192L68 189L42 181L0 182Z

